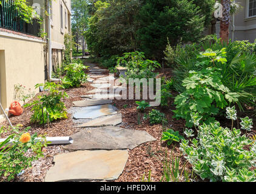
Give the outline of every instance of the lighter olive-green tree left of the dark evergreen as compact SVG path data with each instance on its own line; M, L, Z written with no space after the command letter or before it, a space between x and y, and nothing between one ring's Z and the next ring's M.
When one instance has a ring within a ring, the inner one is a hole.
M134 52L138 25L135 16L140 7L138 0L96 1L86 33L89 50L97 56L106 57Z

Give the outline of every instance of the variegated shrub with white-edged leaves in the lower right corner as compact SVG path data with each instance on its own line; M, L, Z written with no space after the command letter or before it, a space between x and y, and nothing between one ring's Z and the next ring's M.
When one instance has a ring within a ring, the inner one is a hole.
M234 108L233 108L234 109ZM227 109L227 118L236 119L236 112ZM248 121L248 119L246 119ZM249 124L240 123L251 129ZM239 129L228 129L220 123L198 127L197 139L182 140L180 149L201 179L225 182L255 182L256 142L241 136ZM245 149L247 147L248 149Z

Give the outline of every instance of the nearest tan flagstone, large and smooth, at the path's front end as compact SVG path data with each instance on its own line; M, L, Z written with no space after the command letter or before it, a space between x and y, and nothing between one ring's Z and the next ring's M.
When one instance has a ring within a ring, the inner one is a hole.
M44 181L113 181L123 173L128 156L127 150L86 150L56 155L55 165Z

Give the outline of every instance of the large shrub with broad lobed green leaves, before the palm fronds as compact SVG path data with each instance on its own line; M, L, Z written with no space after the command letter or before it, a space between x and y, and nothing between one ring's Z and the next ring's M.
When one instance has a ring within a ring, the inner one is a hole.
M207 68L200 72L190 71L184 79L186 90L175 98L174 118L186 119L187 127L192 127L190 113L199 113L202 122L212 122L220 109L237 101L237 95L231 93L221 82L221 75L216 69ZM228 103L229 102L229 103Z

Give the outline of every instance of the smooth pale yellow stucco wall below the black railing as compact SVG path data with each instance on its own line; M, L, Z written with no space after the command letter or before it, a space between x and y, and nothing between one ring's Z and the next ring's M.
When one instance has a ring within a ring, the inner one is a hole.
M22 84L36 93L35 84L44 83L44 43L0 33L1 102L6 109L13 101L14 85Z

